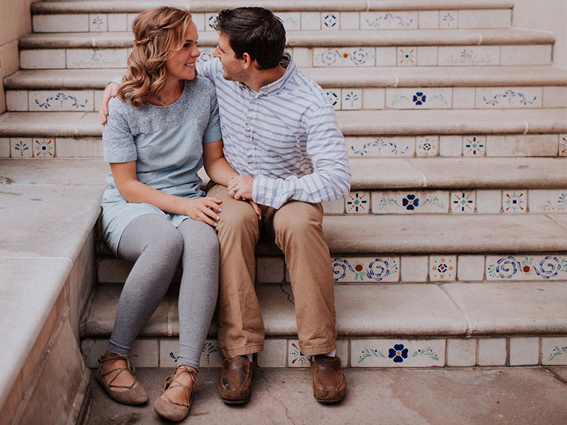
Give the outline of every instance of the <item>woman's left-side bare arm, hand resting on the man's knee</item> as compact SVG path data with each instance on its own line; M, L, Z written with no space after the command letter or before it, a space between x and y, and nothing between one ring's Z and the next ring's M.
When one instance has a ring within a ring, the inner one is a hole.
M220 199L210 196L186 199L150 188L150 186L137 180L135 161L113 162L110 166L116 188L118 188L120 196L128 202L149 203L165 212L183 214L193 220L206 222L211 226L217 225L216 222L220 218L218 212L221 211L218 205L222 203Z

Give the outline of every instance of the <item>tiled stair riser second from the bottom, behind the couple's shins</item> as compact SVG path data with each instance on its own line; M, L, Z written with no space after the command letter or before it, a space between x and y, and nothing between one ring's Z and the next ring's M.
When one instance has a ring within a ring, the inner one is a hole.
M99 283L124 283L132 267L116 257L100 257L97 263ZM360 256L332 255L333 278L337 284L360 283L444 283L546 282L567 280L567 256L558 254L499 255L420 255ZM179 283L181 270L174 277ZM258 284L283 285L290 282L283 256L259 256L256 261Z

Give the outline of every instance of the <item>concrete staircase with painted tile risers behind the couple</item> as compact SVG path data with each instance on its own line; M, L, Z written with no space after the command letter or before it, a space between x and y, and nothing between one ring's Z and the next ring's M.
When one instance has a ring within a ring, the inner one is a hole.
M215 13L237 3L168 2L190 6L201 61L215 45ZM351 157L349 198L324 205L344 365L567 365L567 69L551 64L554 35L510 28L508 0L254 3L282 18ZM6 163L52 162L50 175L89 164L102 179L101 91L125 71L131 21L158 4L33 4L20 70L4 81ZM129 270L96 242L81 324L89 367ZM308 366L275 246L257 247L257 282L259 365ZM176 309L173 285L137 341L137 366L174 365ZM203 367L220 365L215 344L213 324Z

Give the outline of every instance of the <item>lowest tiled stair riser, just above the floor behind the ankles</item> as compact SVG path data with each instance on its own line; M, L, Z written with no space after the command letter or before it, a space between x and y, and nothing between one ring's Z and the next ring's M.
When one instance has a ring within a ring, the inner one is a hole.
M82 340L85 363L98 366L107 339ZM403 344L403 347L395 345ZM179 339L137 339L132 353L137 368L174 368ZM396 356L395 351L398 351ZM509 336L495 338L411 339L408 336L376 339L338 339L337 356L351 368L451 368L473 366L558 366L567 365L567 336ZM216 339L207 339L201 354L201 368L220 368L223 357ZM297 339L264 341L259 353L260 368L308 368Z

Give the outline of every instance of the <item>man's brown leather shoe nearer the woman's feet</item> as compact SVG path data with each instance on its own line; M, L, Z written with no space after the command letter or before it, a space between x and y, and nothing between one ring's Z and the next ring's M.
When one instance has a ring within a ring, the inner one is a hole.
M250 399L252 377L256 370L257 355L225 357L223 370L218 378L218 394L227 404L242 404Z

